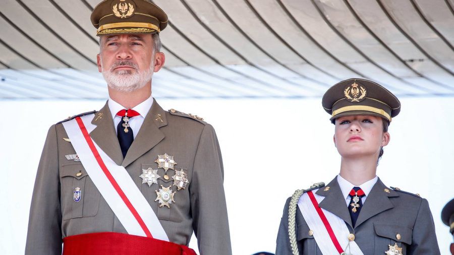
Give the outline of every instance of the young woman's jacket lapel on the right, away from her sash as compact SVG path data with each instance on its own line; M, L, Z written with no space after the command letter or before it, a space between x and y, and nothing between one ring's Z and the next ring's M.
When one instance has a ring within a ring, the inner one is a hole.
M387 190L387 192L385 190ZM393 208L394 205L389 200L391 197L399 197L399 194L391 188L386 187L383 182L381 182L380 178L378 178L377 183L372 187L369 196L367 196L366 201L364 202L358 220L356 221L355 228L372 216Z

